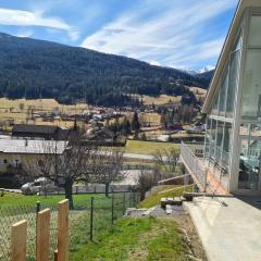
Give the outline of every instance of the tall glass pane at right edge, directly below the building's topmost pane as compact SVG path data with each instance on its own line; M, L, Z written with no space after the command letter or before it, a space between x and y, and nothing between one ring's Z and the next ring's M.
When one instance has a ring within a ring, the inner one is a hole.
M261 50L249 49L244 76L241 116L261 120Z

